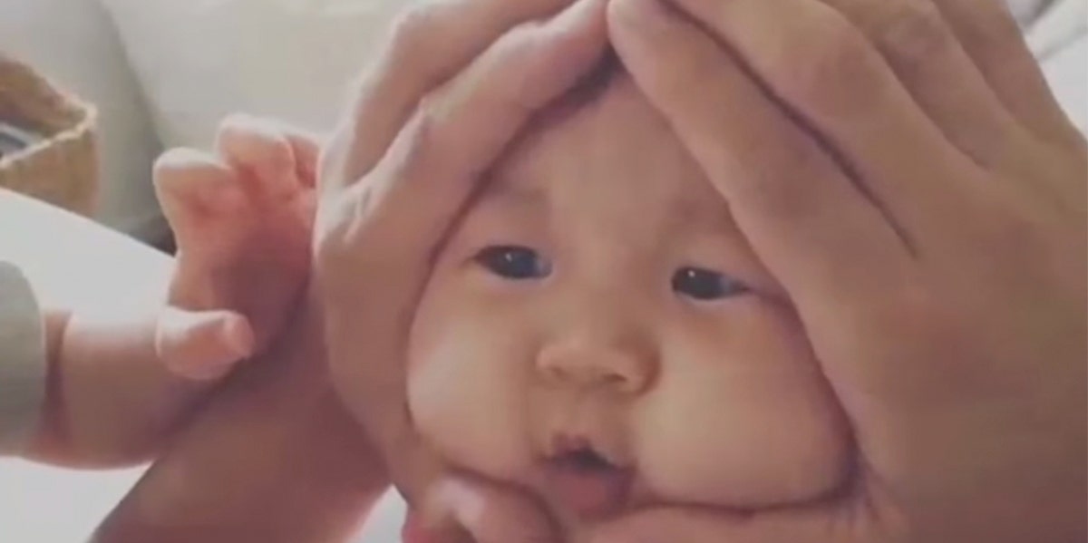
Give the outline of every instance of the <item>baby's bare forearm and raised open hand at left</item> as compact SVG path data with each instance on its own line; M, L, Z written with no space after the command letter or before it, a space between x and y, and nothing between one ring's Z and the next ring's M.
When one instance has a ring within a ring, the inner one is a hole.
M47 311L49 378L26 456L152 457L202 393L282 328L309 273L317 144L234 119L217 147L172 151L156 168L178 245L168 305L111 320Z

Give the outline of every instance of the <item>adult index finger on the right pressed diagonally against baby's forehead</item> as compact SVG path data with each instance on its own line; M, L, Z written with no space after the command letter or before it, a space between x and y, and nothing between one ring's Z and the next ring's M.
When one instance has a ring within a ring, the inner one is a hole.
M893 225L728 52L658 0L610 7L628 71L802 312L893 291L910 258Z

